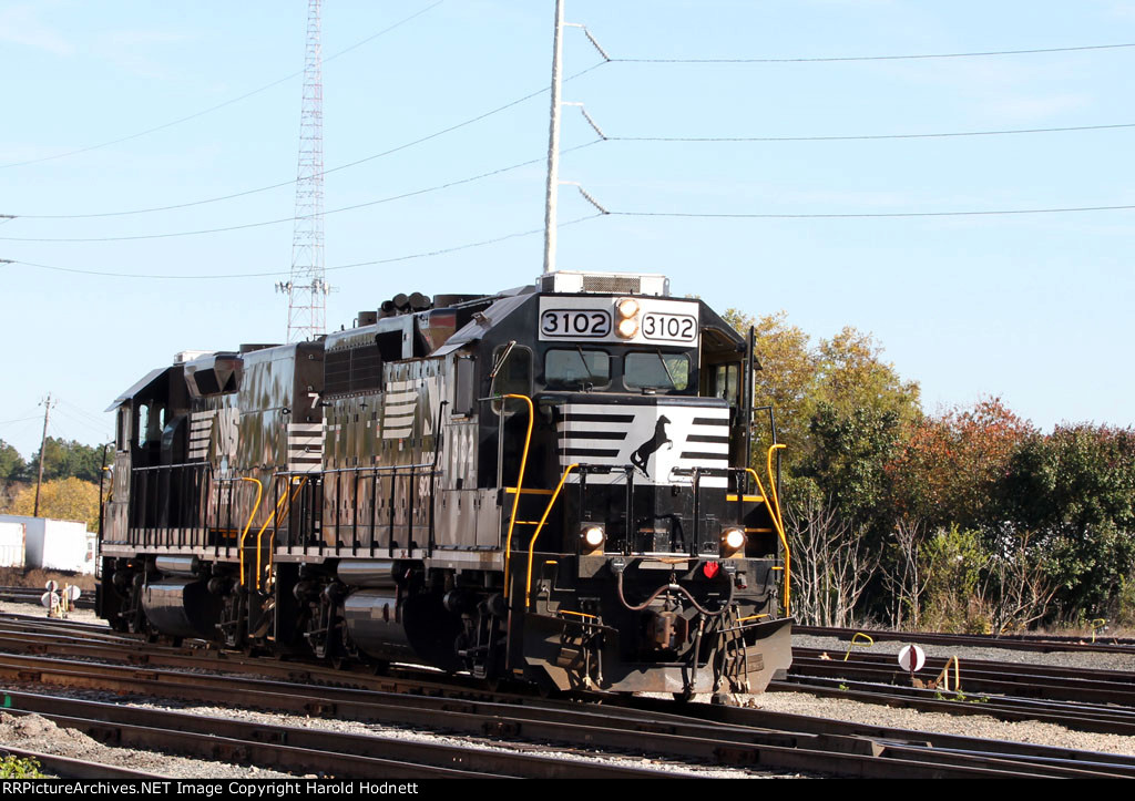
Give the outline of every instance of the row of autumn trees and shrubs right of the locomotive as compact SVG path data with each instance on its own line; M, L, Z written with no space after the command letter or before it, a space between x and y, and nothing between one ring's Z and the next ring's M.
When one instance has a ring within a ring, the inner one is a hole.
M775 410L788 446L789 534L815 562L793 573L816 617L974 631L1135 623L1135 431L1045 435L995 397L924 414L918 385L869 334L813 342L784 312L725 319L756 334L754 399ZM770 444L758 428L759 469Z

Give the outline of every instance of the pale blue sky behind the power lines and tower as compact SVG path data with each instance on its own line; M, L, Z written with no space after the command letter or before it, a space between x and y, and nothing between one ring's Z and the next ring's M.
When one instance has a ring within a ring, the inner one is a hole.
M392 295L531 281L543 225L552 0L326 0L326 208L494 177L326 218L328 326ZM568 0L612 59L817 59L1135 43L1135 2ZM306 3L0 2L0 438L108 438L102 410L183 349L286 338ZM602 58L565 34L565 73ZM563 269L664 272L676 294L785 310L816 338L871 331L934 412L1000 396L1042 428L1135 424L1128 398L1135 210L807 217L1135 205L1135 128L797 142L1135 124L1135 47L960 58L603 64L568 82L612 137L564 155L612 212ZM251 96L249 92L272 84ZM199 112L227 103L208 113ZM566 109L565 149L596 137ZM194 116L199 115L199 116ZM174 120L194 116L176 125ZM141 132L161 129L135 136ZM125 141L106 146L107 142ZM84 151L73 153L72 151ZM64 219L271 191L144 214ZM565 187L561 220L594 209ZM194 236L180 234L284 219ZM50 242L111 238L106 242ZM23 239L23 241L22 241ZM40 239L40 241L32 241ZM386 262L334 269L358 262ZM120 278L66 270L190 279ZM205 278L241 273L250 278Z

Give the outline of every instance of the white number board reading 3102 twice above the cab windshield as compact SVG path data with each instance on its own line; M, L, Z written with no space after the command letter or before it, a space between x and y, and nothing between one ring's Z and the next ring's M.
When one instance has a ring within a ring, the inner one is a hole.
M615 334L617 297L545 295L540 297L540 339L587 340L622 345L697 345L698 304L691 301L638 298L638 331Z

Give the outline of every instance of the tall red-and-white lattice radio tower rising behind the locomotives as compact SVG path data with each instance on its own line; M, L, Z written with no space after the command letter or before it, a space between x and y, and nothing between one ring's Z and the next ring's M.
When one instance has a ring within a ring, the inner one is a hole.
M325 332L327 293L323 271L323 54L319 42L322 0L308 0L308 48L300 116L300 167L295 182L292 278L277 289L287 294L287 340Z

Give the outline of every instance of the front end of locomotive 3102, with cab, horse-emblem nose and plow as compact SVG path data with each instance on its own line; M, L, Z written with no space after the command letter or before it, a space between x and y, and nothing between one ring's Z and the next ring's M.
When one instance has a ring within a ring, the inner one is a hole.
M482 343L512 669L560 689L763 690L790 621L775 479L748 470L747 344L661 276L540 289Z

